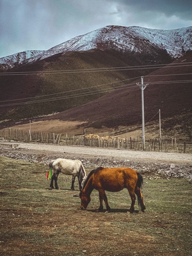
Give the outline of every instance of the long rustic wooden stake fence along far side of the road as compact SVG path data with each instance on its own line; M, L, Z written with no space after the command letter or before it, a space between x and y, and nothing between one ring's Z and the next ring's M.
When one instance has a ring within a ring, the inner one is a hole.
M97 134L72 135L56 132L30 132L6 128L0 130L1 140L77 145L86 147L119 148L143 150L141 137L120 138L118 136L99 136ZM192 153L192 140L179 138L152 138L145 140L146 151Z

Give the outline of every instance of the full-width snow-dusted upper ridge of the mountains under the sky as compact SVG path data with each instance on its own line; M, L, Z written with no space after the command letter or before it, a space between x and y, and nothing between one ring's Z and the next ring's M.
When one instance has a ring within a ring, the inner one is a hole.
M171 58L178 58L192 50L192 27L180 29L148 29L141 27L106 26L85 35L76 36L47 51L25 51L0 58L0 69L33 63L66 51L91 49L146 53L152 49L166 50Z

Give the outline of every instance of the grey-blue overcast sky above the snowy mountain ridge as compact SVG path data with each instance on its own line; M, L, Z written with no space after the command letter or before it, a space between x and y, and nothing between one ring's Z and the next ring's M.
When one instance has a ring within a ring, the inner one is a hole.
M192 26L191 0L0 0L0 58L47 50L108 25Z

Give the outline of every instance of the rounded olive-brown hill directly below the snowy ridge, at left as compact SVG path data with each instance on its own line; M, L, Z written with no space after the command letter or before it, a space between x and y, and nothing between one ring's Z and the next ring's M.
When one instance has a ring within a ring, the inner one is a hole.
M6 102L0 104L0 119L20 120L80 106L98 99L110 89L113 90L114 86L126 84L127 81L124 80L140 76L140 70L134 70L134 72L130 70L84 72L83 70L142 64L142 61L131 55L125 58L120 52L93 50L64 52L14 68L10 72L17 72L16 75L6 72L6 76L1 76L0 101L6 100ZM79 71L74 72L74 70ZM148 72L149 70L145 70L145 74ZM83 93L84 96L73 97L78 93ZM70 98L66 100L65 97L68 96ZM30 99L31 97L36 98ZM32 100L42 100L42 103L34 104L31 103ZM26 102L24 105L8 106L12 103L23 104L24 102Z

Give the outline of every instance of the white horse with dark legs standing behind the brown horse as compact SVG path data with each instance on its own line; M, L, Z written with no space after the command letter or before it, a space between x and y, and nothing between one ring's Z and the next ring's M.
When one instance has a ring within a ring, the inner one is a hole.
M83 180L86 180L86 172L84 170L83 163L79 160L58 158L56 160L51 160L49 163L49 167L51 168L51 170L54 171L51 177L50 189L54 188L53 180L55 182L56 189L59 189L58 175L60 174L60 172L66 175L72 175L72 190L75 190L74 182L76 177L78 177L79 189L81 189L81 182L83 182Z

